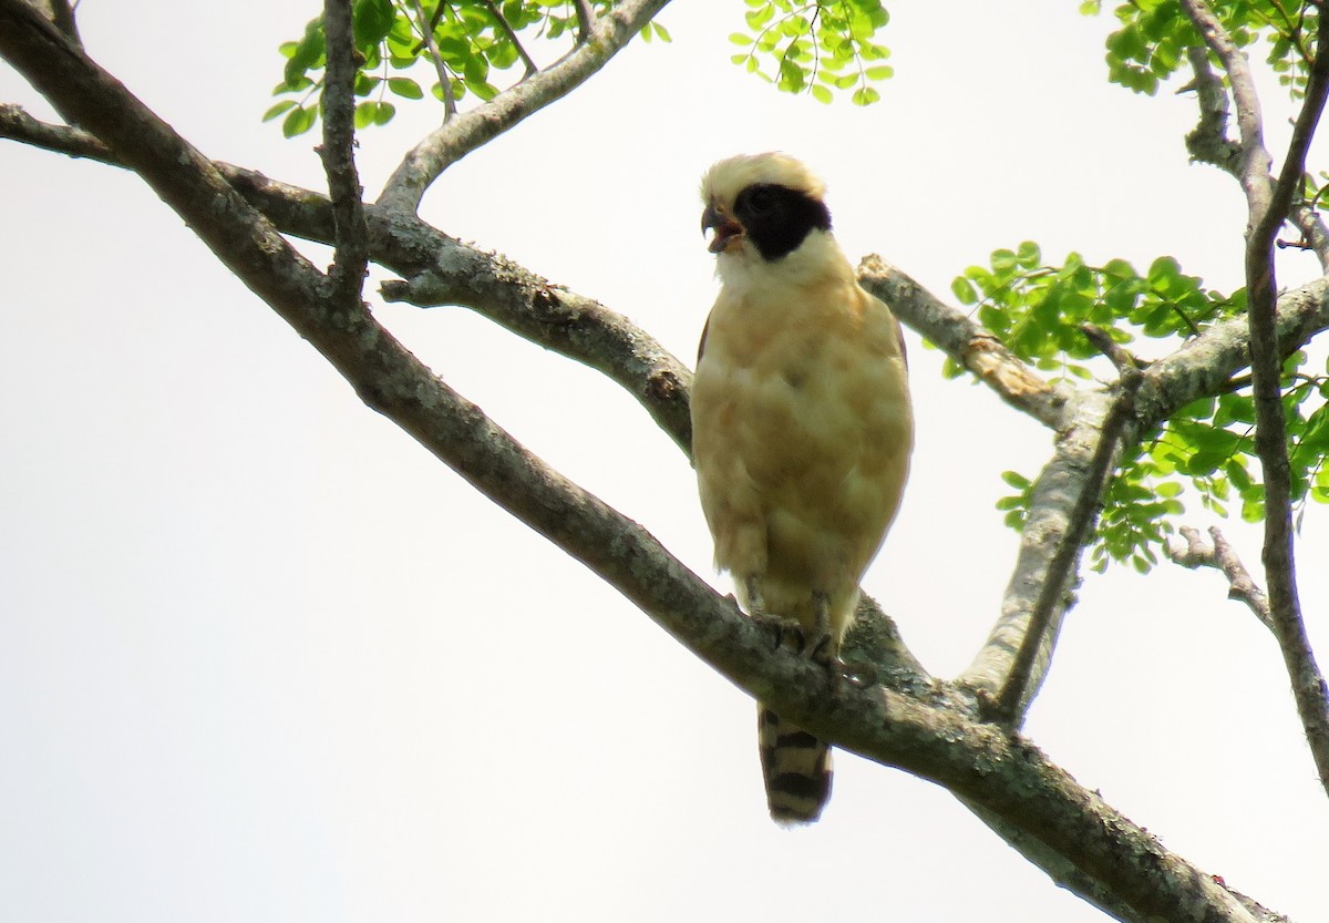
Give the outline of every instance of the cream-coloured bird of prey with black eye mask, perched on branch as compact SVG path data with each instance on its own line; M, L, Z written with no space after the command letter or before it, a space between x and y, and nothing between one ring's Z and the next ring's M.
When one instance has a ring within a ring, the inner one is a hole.
M692 458L715 565L775 645L835 670L913 451L905 346L831 231L825 185L772 152L702 180L720 291L692 379ZM773 821L816 821L831 747L758 702Z

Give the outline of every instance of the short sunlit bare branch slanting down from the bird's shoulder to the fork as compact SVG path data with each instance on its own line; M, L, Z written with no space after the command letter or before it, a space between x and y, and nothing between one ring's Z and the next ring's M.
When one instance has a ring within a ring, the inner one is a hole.
M876 254L859 263L859 282L1007 404L1046 427L1062 426L1070 390L1049 384L985 327L938 301Z

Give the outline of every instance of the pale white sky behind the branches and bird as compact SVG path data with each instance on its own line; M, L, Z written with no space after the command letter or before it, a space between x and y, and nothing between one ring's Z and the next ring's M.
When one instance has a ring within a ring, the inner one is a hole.
M1193 100L1108 85L1114 20L1076 5L896 4L896 77L859 109L732 66L738 0L678 0L672 44L634 43L472 154L424 215L687 362L716 287L698 178L742 152L804 158L852 259L881 253L948 301L1022 239L1050 259L1171 254L1239 286L1244 205L1187 164ZM80 20L206 154L320 188L316 136L259 122L276 45L318 9L85 0ZM51 116L7 68L0 100ZM1265 105L1281 145L1276 88ZM371 197L441 116L400 112L360 137ZM944 790L847 754L824 819L776 829L752 702L364 408L140 180L0 142L0 189L4 919L1104 919ZM1281 271L1294 285L1313 261ZM692 473L617 386L464 310L371 301L711 576ZM914 473L865 588L946 677L1014 561L999 473L1035 473L1051 442L942 380L914 335L910 358ZM1322 661L1326 521L1309 509L1300 545ZM1255 568L1257 532L1225 528ZM1281 658L1215 572L1086 573L1027 733L1200 868L1296 920L1329 914L1329 806Z

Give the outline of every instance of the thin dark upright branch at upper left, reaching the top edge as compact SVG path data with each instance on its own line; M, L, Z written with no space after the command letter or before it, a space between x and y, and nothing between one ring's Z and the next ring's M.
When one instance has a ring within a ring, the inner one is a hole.
M327 81L323 90L323 145L319 157L328 177L336 251L332 259L332 297L359 303L364 270L369 263L364 225L364 190L355 169L355 36L351 0L324 0Z

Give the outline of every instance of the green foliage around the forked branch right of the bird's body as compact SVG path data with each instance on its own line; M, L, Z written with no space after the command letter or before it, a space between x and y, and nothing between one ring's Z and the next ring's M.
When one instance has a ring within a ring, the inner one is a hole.
M1167 351L1212 325L1245 313L1245 291L1207 290L1171 257L1155 259L1140 274L1124 259L1087 265L1071 253L1059 266L1046 265L1037 243L995 250L987 266L970 266L952 282L952 293L970 305L991 332L1025 362L1059 378L1091 378L1095 347L1080 331L1091 323L1118 343L1139 338L1172 340ZM1293 497L1329 503L1329 367L1305 374L1304 352L1284 364ZM948 360L945 372L962 370ZM1092 567L1127 561L1138 571L1158 563L1172 519L1185 512L1187 489L1200 504L1227 516L1239 504L1243 519L1264 515L1264 484L1255 455L1255 404L1248 382L1183 407L1158 431L1128 447L1104 491L1103 511L1090 553ZM1006 472L1015 493L997 501L1007 525L1021 528L1031 507L1031 480Z

